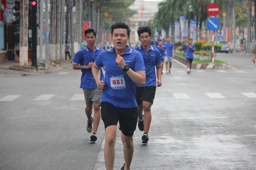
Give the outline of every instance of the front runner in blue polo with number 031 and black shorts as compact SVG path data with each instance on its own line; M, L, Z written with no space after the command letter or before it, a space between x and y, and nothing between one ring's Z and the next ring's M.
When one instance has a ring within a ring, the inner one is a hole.
M134 143L132 136L138 120L136 84L145 83L143 57L127 44L130 27L124 22L111 26L114 47L99 54L93 64L93 76L99 89L103 89L100 106L105 126L104 158L107 170L112 170L115 160L117 123L124 145L125 164L121 169L130 169ZM106 68L105 79L98 78L99 69Z

